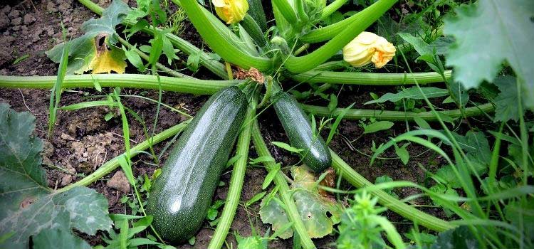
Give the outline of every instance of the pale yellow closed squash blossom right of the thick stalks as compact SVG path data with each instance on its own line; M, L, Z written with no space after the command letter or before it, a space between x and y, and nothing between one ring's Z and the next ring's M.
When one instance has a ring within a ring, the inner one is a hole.
M355 68L375 63L382 68L395 55L395 46L375 33L362 32L343 48L343 60Z

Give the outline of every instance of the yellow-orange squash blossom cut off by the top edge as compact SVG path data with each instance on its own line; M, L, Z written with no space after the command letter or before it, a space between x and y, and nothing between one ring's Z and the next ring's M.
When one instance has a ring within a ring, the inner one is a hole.
M226 24L239 23L248 11L246 0L213 0L217 15L226 21Z

